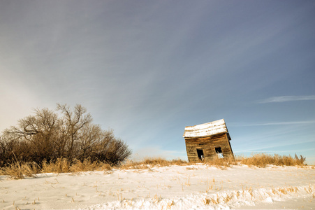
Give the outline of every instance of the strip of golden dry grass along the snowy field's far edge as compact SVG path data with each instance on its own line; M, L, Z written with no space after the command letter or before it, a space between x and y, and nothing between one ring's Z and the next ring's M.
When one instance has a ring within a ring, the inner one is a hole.
M281 156L281 155L267 155L256 154L249 158L234 158L230 156L228 158L213 158L203 162L206 165L216 166L221 169L226 169L231 165L244 164L256 167L266 167L267 165L277 166L304 166L305 158L300 155L295 157ZM142 161L127 160L124 164L117 166L117 169L150 169L152 167L168 167L171 165L196 165L198 163L186 162L184 160L166 160L164 158L145 158ZM3 167L0 169L0 175L8 175L12 179L24 179L24 177L34 177L39 173L75 173L75 172L87 172L87 171L110 171L112 167L103 162L91 162L89 159L85 159L83 162L75 160L70 162L66 158L59 158L56 162L43 162L42 167L38 166L35 162L24 163L16 162L14 165Z

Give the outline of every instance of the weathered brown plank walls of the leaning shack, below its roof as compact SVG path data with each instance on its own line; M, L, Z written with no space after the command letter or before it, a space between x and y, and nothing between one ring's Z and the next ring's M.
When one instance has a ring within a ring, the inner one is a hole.
M186 151L189 162L198 162L199 158L197 155L197 149L203 149L203 155L205 160L211 159L215 153L216 147L221 147L224 157L228 155L233 155L232 148L230 147L230 142L228 141L228 136L226 133L217 134L211 137L198 137L185 139Z

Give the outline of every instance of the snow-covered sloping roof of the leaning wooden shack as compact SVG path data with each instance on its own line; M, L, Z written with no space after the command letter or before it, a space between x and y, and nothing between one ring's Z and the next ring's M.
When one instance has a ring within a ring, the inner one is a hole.
M222 133L228 133L228 128L226 127L226 122L224 121L224 119L200 125L186 126L183 137L207 137Z

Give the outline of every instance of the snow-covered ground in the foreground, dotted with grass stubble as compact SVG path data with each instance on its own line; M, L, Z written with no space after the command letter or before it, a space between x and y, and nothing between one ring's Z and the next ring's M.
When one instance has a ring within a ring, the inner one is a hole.
M206 165L0 176L0 209L315 209L315 169Z

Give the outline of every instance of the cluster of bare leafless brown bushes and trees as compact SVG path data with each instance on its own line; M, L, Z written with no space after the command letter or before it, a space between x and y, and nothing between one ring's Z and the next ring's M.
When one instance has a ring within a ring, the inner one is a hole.
M87 158L119 165L129 158L131 150L112 130L102 130L81 105L71 109L57 104L57 113L35 109L33 116L19 120L18 125L4 130L0 137L0 167L16 162L71 162Z

